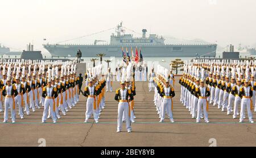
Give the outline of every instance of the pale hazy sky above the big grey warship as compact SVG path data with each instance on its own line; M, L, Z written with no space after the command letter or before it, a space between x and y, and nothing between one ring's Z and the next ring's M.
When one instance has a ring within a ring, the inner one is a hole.
M226 46L256 43L255 0L0 0L0 43L23 50L115 27ZM112 31L70 42L110 40ZM132 33L132 32L131 32ZM141 36L134 34L135 36ZM167 40L168 41L168 40Z

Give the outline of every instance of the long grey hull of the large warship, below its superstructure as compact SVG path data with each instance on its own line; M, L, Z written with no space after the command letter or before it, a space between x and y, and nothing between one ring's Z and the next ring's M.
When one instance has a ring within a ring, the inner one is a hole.
M129 50L131 45L122 45ZM81 50L82 57L96 57L96 54L104 53L105 57L122 57L121 45L44 45L53 57L76 57L77 50ZM215 57L217 45L142 45L143 57ZM135 46L133 46L135 55ZM139 50L138 50L139 53Z

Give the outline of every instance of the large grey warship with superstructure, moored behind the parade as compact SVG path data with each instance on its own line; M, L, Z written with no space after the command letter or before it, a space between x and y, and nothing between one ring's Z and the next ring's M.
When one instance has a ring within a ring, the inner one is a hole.
M133 37L124 33L122 23L117 25L115 33L110 36L110 44L43 44L53 56L76 57L77 50L81 50L82 57L95 57L98 53L106 54L105 57L122 57L122 48L129 52L135 47L141 48L143 57L215 57L217 44L190 43L190 44L165 44L164 37L156 34L146 36L147 29L142 29L142 37Z

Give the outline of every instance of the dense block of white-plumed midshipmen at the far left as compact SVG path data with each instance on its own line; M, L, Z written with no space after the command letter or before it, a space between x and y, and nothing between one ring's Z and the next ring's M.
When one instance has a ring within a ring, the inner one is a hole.
M42 122L52 118L60 119L60 112L65 116L68 108L79 101L79 76L73 62L1 60L0 112L4 121L8 121L8 109L11 110L12 122L15 122L15 110L21 119L24 113L30 115L36 109L44 107ZM17 106L15 108L15 106Z

